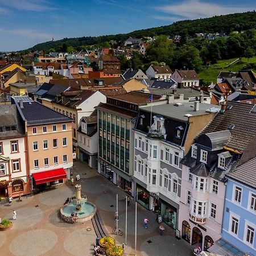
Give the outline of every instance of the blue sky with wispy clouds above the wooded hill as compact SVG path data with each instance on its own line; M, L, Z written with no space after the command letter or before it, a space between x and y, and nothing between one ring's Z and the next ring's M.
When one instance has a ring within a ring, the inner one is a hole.
M0 0L0 51L252 11L256 0Z

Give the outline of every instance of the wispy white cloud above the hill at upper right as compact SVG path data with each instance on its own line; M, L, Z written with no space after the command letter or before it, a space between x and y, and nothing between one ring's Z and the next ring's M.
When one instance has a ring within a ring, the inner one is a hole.
M251 11L253 10L253 6L224 6L217 5L216 3L202 2L200 0L188 0L176 5L164 5L155 7L155 9L163 11L163 13L183 16L186 19L198 19L214 15Z

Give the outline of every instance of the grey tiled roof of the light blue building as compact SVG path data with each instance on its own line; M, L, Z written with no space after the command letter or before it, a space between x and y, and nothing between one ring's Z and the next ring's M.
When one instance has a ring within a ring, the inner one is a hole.
M233 172L230 172L228 177L234 180L241 181L246 185L256 188L256 157L248 162L237 167Z

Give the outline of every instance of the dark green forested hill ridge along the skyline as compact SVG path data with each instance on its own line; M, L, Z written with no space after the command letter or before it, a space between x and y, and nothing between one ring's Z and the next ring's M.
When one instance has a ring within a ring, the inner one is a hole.
M128 34L104 35L104 36L83 36L82 38L64 38L55 42L46 42L36 44L30 50L42 50L50 48L62 47L65 43L67 46L74 48L78 46L90 46L93 44L100 44L104 42L114 41L122 43L129 36L133 38L143 38L146 36L167 35L167 36L195 36L195 33L214 33L225 32L227 35L232 31L241 32L256 28L256 12L251 11L247 13L237 13L213 16L212 18L182 20L172 23L168 26L147 28L144 30L136 30Z

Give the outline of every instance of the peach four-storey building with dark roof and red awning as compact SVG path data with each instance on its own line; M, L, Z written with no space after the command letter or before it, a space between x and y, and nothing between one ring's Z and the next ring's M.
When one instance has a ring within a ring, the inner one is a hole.
M64 183L73 166L73 119L27 97L14 99L25 124L32 189Z

